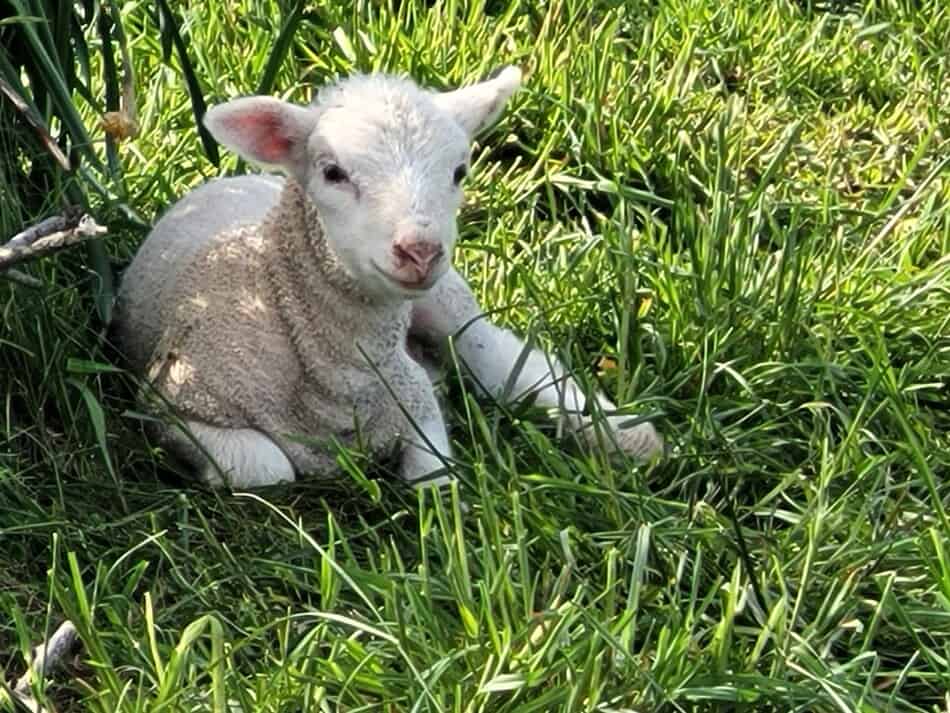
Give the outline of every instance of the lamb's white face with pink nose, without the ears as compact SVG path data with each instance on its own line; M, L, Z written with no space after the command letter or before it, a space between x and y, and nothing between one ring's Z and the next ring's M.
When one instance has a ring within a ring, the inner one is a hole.
M449 267L469 137L407 82L360 78L318 99L306 189L360 285L414 297Z

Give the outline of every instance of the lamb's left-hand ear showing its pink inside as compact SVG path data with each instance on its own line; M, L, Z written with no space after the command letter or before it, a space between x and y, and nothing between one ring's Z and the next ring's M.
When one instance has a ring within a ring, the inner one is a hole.
M211 107L204 124L242 158L295 168L304 158L317 113L273 97L242 97Z

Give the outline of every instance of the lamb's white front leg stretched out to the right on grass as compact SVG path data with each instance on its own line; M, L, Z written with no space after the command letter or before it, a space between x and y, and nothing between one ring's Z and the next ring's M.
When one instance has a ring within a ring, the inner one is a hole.
M485 392L503 402L533 395L537 405L556 409L572 430L589 441L596 440L584 392L563 365L538 349L526 353L521 339L489 322L471 288L455 270L413 304L411 329L431 342L454 335L458 356ZM603 395L594 399L600 411L616 410ZM621 428L629 420L629 416L607 416L608 442L612 440L621 451L645 460L663 450L663 439L652 424Z

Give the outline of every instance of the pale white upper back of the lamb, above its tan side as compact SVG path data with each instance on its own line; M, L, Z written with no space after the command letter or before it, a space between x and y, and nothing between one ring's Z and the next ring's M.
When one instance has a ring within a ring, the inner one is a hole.
M196 256L242 224L259 224L280 198L283 179L248 175L218 178L195 188L155 224L122 277L116 333L138 371L145 369L183 291ZM230 232L229 232L230 231ZM206 276L209 281L214 275Z

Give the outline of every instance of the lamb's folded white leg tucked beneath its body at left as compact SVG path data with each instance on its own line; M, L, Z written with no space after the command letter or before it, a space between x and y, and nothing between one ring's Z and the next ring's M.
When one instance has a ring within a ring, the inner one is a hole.
M287 456L260 431L218 428L199 421L186 421L184 425L190 435L174 425L158 426L156 435L163 445L193 465L208 485L261 488L295 478Z

